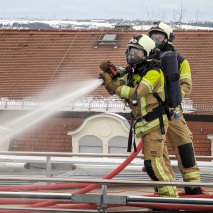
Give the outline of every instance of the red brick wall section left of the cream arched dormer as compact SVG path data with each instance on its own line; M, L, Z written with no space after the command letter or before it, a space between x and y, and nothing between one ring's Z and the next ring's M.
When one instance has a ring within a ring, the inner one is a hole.
M11 140L12 151L71 152L71 138L67 131L83 122L81 118L49 118Z

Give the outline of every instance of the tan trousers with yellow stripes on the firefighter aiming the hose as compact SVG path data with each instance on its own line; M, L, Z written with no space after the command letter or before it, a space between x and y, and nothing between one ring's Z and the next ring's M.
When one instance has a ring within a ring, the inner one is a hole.
M164 122L165 130L168 120ZM172 182L174 178L164 161L164 144L166 136L161 134L160 127L154 128L148 134L142 136L144 143L144 166L149 177L153 181ZM157 186L157 193L165 197L178 197L175 186Z

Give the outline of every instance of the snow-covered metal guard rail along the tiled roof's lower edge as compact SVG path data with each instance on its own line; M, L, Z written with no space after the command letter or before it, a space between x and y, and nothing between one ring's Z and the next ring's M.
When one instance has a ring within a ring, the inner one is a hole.
M4 110L34 110L43 107L50 102L30 99L10 100L0 99L0 109ZM184 113L194 111L213 111L213 104L193 104L192 100L184 98L182 102ZM110 112L130 112L130 108L116 96L88 96L68 103L61 107L63 111L110 111Z

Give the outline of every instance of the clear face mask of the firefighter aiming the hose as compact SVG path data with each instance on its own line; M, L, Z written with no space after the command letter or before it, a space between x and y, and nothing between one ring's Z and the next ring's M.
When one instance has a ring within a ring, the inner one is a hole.
M145 54L143 50L132 47L127 55L127 62L129 64L138 64L143 60L144 56Z

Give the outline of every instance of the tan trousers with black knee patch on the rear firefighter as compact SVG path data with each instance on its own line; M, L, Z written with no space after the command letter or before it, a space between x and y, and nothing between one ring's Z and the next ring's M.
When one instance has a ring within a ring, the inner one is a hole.
M177 157L178 168L183 180L185 182L199 182L200 170L195 159L193 136L182 113L179 114L179 118L173 116L169 121L167 136ZM170 160L166 156L164 161L167 165L170 164Z

